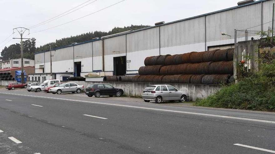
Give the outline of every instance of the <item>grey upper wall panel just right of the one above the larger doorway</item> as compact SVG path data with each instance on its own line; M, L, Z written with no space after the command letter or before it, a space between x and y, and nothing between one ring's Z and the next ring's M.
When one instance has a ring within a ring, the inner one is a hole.
M127 34L127 53L159 48L159 27Z

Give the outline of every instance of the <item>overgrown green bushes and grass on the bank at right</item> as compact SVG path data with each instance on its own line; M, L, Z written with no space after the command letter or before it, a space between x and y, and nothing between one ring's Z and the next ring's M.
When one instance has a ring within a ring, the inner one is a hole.
M268 40L269 42L269 40ZM275 47L274 45L270 45ZM259 52L259 51L257 51ZM232 85L222 89L194 105L243 110L275 111L275 53L259 53L259 71L238 77ZM240 70L242 71L242 70ZM246 72L246 71L243 71Z

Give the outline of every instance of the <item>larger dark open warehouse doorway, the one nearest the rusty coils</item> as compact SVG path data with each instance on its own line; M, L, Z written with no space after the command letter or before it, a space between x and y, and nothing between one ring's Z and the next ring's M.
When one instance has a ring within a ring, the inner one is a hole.
M126 56L114 57L114 75L126 74Z

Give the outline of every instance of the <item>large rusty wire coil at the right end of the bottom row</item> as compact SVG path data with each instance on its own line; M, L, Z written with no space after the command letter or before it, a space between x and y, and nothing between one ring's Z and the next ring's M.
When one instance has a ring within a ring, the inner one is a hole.
M211 74L202 77L202 84L220 84L228 83L230 74Z

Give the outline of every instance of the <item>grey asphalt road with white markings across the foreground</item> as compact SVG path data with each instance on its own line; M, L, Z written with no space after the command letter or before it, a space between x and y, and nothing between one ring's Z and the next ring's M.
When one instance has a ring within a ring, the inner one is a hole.
M274 126L267 112L0 89L1 154L275 153Z

